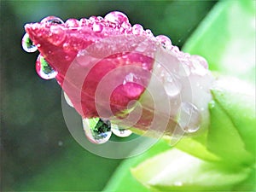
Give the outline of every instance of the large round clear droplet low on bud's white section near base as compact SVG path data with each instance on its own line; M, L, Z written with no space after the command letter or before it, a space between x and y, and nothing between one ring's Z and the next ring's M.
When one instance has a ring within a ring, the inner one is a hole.
M201 124L201 113L191 102L182 102L177 123L185 132L198 131Z

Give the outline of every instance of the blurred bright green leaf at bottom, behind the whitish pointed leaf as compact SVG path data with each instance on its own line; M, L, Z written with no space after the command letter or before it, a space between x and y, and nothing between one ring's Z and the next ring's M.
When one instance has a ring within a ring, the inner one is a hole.
M154 156L155 154L159 154L160 152L165 151L166 149L169 148L170 146L166 142L160 140L160 142L156 143L144 154L124 160L121 163L121 165L117 168L117 170L113 173L111 180L109 181L108 185L103 190L103 192L130 192L131 189L135 189L135 191L140 192L149 192L147 188L145 188L131 175L130 168L132 166L137 166L139 163L143 162L143 160L147 160L148 158Z

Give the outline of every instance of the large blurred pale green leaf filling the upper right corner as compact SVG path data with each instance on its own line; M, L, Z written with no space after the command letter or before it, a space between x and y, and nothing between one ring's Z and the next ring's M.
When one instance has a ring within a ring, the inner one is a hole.
M255 3L220 1L183 50L204 56L213 71L255 83Z

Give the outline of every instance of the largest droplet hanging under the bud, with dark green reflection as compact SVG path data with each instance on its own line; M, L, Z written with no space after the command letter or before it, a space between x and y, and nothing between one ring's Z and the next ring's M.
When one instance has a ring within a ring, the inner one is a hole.
M85 136L91 143L102 144L111 137L111 124L109 120L100 118L83 119Z

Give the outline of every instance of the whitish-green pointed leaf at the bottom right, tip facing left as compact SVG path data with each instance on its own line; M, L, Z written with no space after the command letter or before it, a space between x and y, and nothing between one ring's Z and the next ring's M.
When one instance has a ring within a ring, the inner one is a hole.
M153 191L230 190L245 180L249 168L229 167L171 149L132 169L138 181Z

